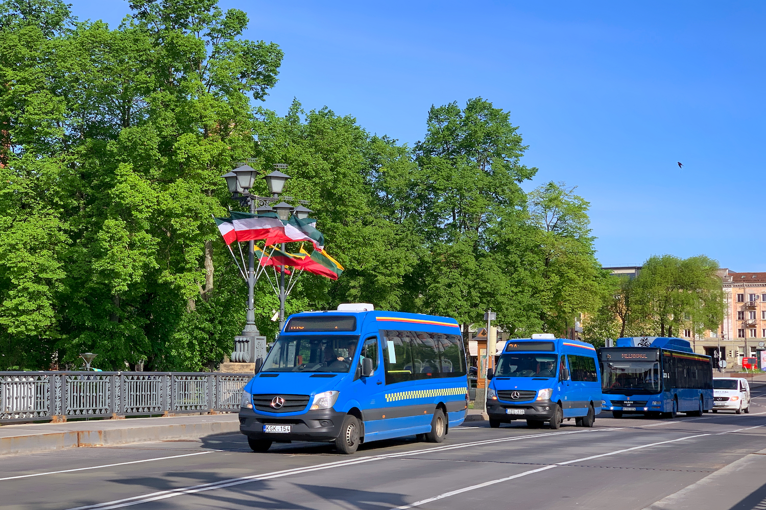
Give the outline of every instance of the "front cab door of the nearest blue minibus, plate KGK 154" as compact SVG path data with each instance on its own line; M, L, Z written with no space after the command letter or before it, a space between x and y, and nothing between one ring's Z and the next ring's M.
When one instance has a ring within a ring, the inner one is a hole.
M362 359L372 359L372 375L361 377ZM353 398L358 401L365 417L365 440L371 440L382 430L385 416L385 381L383 365L380 362L380 342L378 336L367 336L359 352L358 368L351 384Z

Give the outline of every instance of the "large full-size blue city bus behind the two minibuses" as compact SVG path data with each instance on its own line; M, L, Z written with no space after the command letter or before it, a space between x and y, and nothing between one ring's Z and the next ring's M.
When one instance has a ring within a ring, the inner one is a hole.
M618 338L598 349L604 411L614 417L642 413L702 416L713 407L712 358L689 342L665 336Z

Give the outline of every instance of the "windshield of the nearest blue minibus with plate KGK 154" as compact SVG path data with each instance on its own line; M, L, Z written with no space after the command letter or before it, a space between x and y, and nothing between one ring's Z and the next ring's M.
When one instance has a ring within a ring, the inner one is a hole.
M261 372L349 372L359 337L283 335L271 347Z

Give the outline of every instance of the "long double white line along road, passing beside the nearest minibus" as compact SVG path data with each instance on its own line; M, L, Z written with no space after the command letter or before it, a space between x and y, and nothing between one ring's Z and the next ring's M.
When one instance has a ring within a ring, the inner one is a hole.
M110 510L111 508L123 508L126 506L140 505L142 503L159 501L161 499L175 498L175 496L178 496L178 495L195 494L197 492L205 492L205 491L210 491L214 489L224 489L225 487L238 486L238 485L242 485L243 483L257 482L259 480L281 478L283 476L298 475L301 473L310 473L313 471L321 471L322 469L333 469L336 467L353 466L355 464L368 463L368 462L373 462L376 460L385 460L385 459L392 459L392 458L401 457L401 456L417 455L418 453L433 453L433 452L442 452L445 450L457 450L460 448L467 448L467 447L480 447L487 444L506 443L509 441L534 439L538 437L552 437L552 436L563 436L563 435L569 435L569 434L584 434L584 433L593 434L596 432L620 430L620 428L622 427L611 427L611 428L604 428L604 429L571 430L567 432L552 432L547 434L535 434L535 435L529 435L529 436L506 437L502 439L473 441L471 443L458 443L458 444L444 445L442 447L424 448L422 450L414 450L414 451L398 452L398 453L386 453L384 455L366 456L361 458L357 457L357 458L352 458L349 460L339 460L336 462L319 464L317 466L306 466L306 467L299 467L299 468L293 468L293 469L283 469L281 471L273 471L271 473L263 473L260 475L243 476L241 478L226 479L226 480L221 480L218 482L202 483L197 486L189 486L189 487L182 487L179 489L152 492L150 494L133 496L132 498L116 499L110 502L97 503L96 505L78 506L77 508L70 508L69 510L90 510L90 509Z

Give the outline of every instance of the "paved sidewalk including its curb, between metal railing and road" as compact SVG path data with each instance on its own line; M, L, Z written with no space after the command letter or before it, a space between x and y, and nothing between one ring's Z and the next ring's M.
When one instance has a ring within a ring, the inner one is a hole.
M0 455L59 448L197 439L238 431L237 413L3 425L0 427Z

